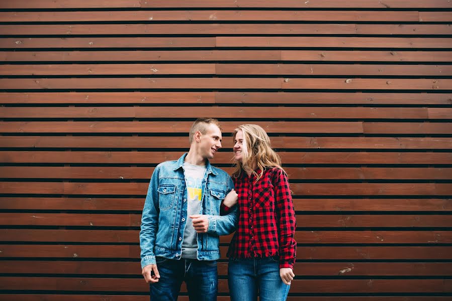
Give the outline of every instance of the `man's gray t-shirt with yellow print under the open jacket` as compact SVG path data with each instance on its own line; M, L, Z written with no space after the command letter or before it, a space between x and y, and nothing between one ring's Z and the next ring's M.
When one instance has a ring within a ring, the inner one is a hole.
M184 240L182 242L182 258L196 259L198 250L198 233L193 227L193 221L190 215L200 214L201 199L203 197L202 182L206 166L193 165L184 163L184 176L187 185L187 225L184 230Z

